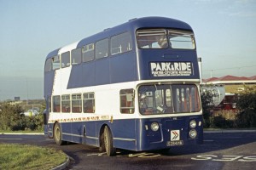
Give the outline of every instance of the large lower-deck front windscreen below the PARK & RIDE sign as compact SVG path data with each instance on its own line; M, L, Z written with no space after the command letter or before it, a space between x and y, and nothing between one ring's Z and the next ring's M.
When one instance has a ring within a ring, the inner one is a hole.
M141 114L190 113L201 110L195 84L145 85L139 88Z

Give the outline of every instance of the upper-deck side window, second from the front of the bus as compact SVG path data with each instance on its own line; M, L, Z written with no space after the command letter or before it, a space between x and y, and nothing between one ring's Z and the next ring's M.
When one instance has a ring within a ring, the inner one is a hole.
M108 38L96 42L96 59L108 57Z

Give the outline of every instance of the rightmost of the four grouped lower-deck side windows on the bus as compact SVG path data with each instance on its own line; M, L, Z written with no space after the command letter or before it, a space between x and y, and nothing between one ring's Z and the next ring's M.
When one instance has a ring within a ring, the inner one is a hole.
M94 93L84 94L84 113L94 113L95 112L95 99Z

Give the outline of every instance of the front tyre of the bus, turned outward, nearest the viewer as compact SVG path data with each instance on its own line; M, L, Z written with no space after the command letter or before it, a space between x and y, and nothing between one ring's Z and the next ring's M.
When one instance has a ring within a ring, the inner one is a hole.
M110 129L106 126L104 129L104 144L108 156L115 155L115 148L113 147L113 136Z

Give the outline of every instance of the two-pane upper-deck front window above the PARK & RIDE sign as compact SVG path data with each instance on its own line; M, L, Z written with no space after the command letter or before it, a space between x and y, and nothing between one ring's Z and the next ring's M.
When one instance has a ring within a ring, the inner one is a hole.
M137 31L138 48L195 49L191 31L147 29Z

